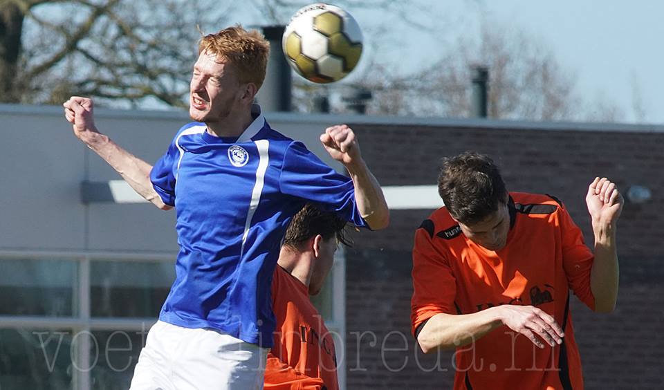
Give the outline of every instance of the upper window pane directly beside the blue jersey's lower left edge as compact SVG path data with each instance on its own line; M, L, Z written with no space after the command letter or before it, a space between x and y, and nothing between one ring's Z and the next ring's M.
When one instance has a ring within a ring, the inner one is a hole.
M157 317L175 279L170 262L91 261L93 317Z

